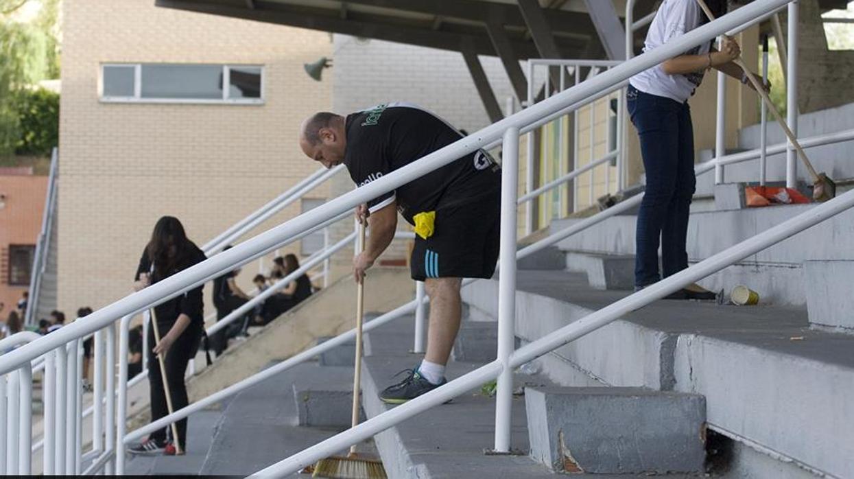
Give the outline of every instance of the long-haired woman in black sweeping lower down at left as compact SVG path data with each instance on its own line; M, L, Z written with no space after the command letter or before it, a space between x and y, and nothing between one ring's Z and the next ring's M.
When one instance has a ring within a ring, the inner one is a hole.
M164 216L157 220L151 240L139 260L134 289L137 291L143 289L203 260L205 260L205 254L196 247L196 244L187 239L181 222L172 216ZM163 390L157 354L164 355L167 383L175 410L188 404L184 371L187 369L190 358L196 355L204 330L202 286L190 289L183 295L178 295L155 307L155 318L161 341L155 342L154 328L149 328L151 350L148 368L152 421L168 414L166 392ZM187 420L178 421L177 427L179 450L185 451ZM147 441L132 447L131 453L155 454L164 451L174 453L175 447L167 448L167 429L163 428L151 433ZM172 441L174 442L175 438L172 438Z

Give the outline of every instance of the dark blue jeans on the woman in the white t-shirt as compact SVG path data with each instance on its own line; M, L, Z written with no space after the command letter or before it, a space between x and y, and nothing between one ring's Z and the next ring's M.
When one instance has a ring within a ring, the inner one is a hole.
M694 177L691 109L629 85L627 105L640 137L646 190L635 233L635 286L647 286L687 268L688 213ZM658 272L658 240L661 266Z

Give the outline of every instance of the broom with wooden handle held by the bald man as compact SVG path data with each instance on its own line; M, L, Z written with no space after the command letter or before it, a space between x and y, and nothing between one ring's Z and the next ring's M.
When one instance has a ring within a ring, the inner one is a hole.
M359 222L360 253L365 250L365 223ZM365 313L365 280L356 283L356 358L353 371L353 416L352 427L359 424L359 394L362 376L362 316ZM336 479L385 479L383 462L356 453L356 445L350 447L346 457L332 456L320 459L314 465L313 477Z

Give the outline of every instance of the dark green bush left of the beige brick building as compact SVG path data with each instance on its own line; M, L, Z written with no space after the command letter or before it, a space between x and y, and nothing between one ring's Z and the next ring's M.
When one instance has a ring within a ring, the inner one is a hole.
M23 90L15 94L20 136L17 155L50 155L59 143L59 95L53 91Z

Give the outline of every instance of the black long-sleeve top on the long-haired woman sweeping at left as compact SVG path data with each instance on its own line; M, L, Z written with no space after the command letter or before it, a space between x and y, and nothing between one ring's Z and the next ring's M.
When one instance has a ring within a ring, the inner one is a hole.
M190 266L196 265L196 263L207 260L205 254L202 253L202 250L197 248L195 244L192 245L192 248L193 251L187 256L187 260L184 260L184 264L178 266L172 272L156 275L158 277L157 280L162 279L163 277L170 277L176 272L180 272ZM151 261L149 260L149 255L145 250L143 250L143 255L139 259L139 266L137 266L137 274L134 276L134 281L138 281L139 275L144 272L151 272ZM152 283L156 283L157 281L154 276L155 275L151 275ZM178 295L155 307L157 324L161 326L160 329L163 331L161 334L166 334L167 328L171 328L172 325L178 321L178 316L181 314L186 314L190 318L191 326L196 328L204 327L204 302L202 301L203 287L204 285L190 289L189 291L184 292L183 295Z

